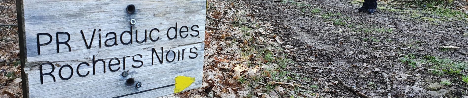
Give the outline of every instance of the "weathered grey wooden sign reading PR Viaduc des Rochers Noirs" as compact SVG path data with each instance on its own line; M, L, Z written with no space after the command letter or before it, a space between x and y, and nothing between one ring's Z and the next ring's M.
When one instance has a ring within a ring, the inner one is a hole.
M26 98L156 98L201 87L206 0L16 4Z

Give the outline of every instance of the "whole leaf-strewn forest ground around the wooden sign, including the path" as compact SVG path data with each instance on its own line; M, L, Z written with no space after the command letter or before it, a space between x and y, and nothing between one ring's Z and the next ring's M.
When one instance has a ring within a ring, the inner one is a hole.
M0 24L16 23L14 1ZM208 0L203 86L168 97L468 98L466 13L361 2ZM1 30L0 98L21 97L17 27Z

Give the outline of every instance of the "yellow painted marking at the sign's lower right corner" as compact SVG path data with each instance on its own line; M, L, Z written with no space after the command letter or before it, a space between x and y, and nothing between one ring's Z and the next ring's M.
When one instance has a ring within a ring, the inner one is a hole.
M185 77L185 76L177 76L175 80L176 80L176 84L175 84L176 88L174 88L174 93L183 91L185 88L192 85L193 82L195 82L195 78Z

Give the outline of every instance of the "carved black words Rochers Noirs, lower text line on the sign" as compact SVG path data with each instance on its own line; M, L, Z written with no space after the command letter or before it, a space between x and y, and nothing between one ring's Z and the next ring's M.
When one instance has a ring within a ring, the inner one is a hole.
M196 59L198 57L198 53L195 52L197 51L198 48L197 47L192 47L190 49L182 49L182 50L167 50L166 52L164 52L164 47L161 47L161 56L158 54L158 51L156 51L155 48L152 48L151 49L151 65L155 65L155 59L157 59L156 63L159 62L160 64L163 64L164 61L168 62L168 63L172 63L174 61L182 61L185 59L185 53L188 51L189 54L189 59ZM72 78L73 76L73 72L76 71L76 74L79 76L79 77L86 77L89 75L90 71L80 71L80 67L81 66L91 66L93 67L93 75L96 74L96 65L97 67L101 66L102 64L102 69L103 69L103 73L106 73L106 69L109 69L110 72L117 72L119 71L121 68L122 70L125 70L126 66L125 64L125 61L126 59L129 60L128 58L132 58L132 61L133 62L136 62L136 63L139 63L139 65L131 65L133 68L140 68L142 67L144 64L143 62L143 55L142 54L136 54L134 56L124 56L122 58L122 60L120 58L111 58L109 59L109 62L108 62L108 65L106 65L106 61L107 60L104 60L104 59L96 59L95 58L95 55L93 55L93 60L88 63L88 62L82 62L78 65L73 65L73 66L76 66L76 70L73 70L73 67L72 65L61 65L60 68L59 68L59 78L62 79L62 80L68 80L70 78ZM165 58L165 59L164 59ZM121 63L122 61L122 63ZM51 67L48 67L47 69L44 68L44 65L49 65ZM39 72L40 72L40 78L41 78L41 84L44 84L44 76L45 75L48 75L48 76L51 76L51 78L53 79L53 81L55 82L56 79L55 79L55 76L56 75L53 75L52 72L55 71L55 68L56 66L52 63L43 63L42 65L39 65ZM59 67L59 66L57 66ZM70 72L68 72L66 75L67 77L64 77L62 76L62 69L64 68L67 68L67 69L70 69ZM49 70L50 69L50 72L45 72L44 70Z

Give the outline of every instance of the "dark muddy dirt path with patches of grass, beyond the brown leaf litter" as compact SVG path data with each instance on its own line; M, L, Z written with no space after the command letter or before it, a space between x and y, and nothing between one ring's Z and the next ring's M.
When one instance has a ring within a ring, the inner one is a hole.
M256 18L282 27L278 34L289 40L286 45L300 50L293 56L299 64L293 69L306 72L305 76L315 80L311 84L322 89L313 92L323 97L357 97L342 85L336 85L338 81L332 78L334 75L368 96L386 97L386 84L380 74L375 74L380 72L390 75L390 92L396 98L462 96L467 85L456 79L459 76L434 75L433 70L442 69L434 69L439 66L431 65L434 59L427 58L468 61L468 33L461 29L468 26L466 22L424 20L388 10L367 14L357 12L358 3L350 0L248 0L245 6L256 12ZM383 6L386 7L390 6ZM438 46L461 49L439 49ZM402 62L406 58L421 60L415 61L416 65L407 64ZM424 60L429 60L429 64L423 63ZM310 66L333 69L311 69ZM459 67L463 66L466 68L466 62ZM426 68L414 72L422 67ZM461 73L466 72L461 70ZM440 87L439 91L424 89L444 79L454 84Z

